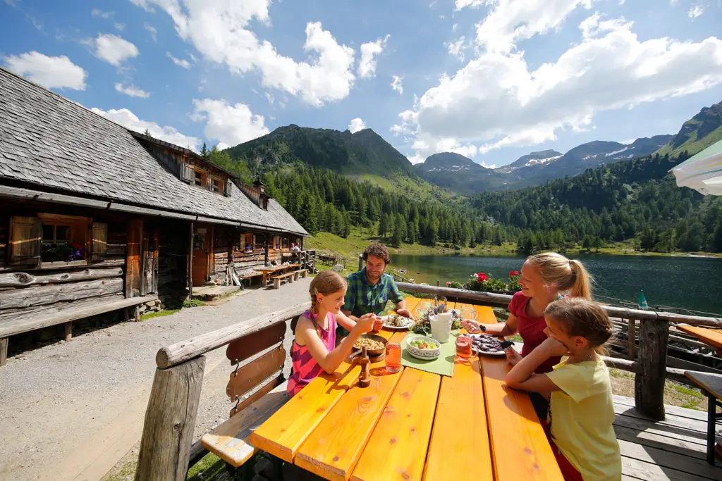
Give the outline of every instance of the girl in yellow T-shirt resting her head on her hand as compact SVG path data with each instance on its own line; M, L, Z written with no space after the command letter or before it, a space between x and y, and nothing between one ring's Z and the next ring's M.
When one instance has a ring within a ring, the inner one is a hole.
M549 338L509 371L506 384L549 397L547 436L565 480L619 480L612 384L599 355L612 337L609 316L592 301L571 297L549 304L544 319ZM568 357L554 371L534 374L552 356Z

